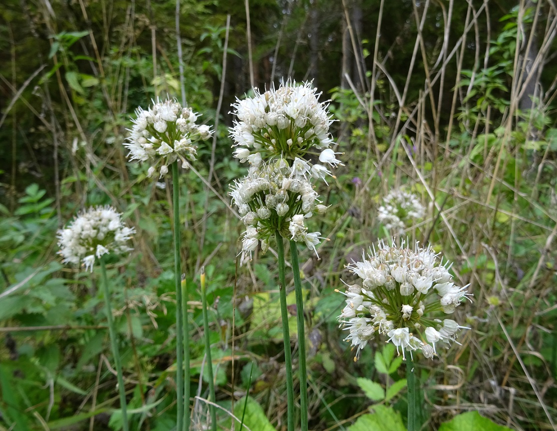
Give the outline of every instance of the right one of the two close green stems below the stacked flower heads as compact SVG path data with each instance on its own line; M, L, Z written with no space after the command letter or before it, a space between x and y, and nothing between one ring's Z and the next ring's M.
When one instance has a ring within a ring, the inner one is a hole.
M307 371L306 371L306 332L304 328L304 295L302 295L302 281L300 280L300 264L298 262L298 246L296 241L290 240L290 254L292 255L292 273L294 274L294 288L296 290L296 316L298 320L298 351L300 363L300 416L301 431L307 431Z

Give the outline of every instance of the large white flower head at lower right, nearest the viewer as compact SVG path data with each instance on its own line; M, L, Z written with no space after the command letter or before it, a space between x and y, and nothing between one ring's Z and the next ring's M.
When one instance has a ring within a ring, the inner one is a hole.
M439 316L452 314L472 294L467 286L455 286L448 262L443 264L433 250L417 242L413 250L404 248L404 243L397 248L379 242L368 259L362 257L363 261L347 266L362 283L348 286L346 306L339 316L341 326L349 331L346 340L357 349L354 360L375 333L388 338L397 351L402 349L404 357L405 351L412 356L421 350L432 358L437 344L448 347L456 340L458 329L465 326Z

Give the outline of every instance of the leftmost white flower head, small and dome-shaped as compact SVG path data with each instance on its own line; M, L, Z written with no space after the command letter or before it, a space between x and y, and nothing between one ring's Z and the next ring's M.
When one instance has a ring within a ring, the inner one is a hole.
M85 266L93 270L95 257L133 250L127 245L133 227L124 225L120 214L111 206L91 207L80 212L66 229L58 230L58 246L63 262Z

